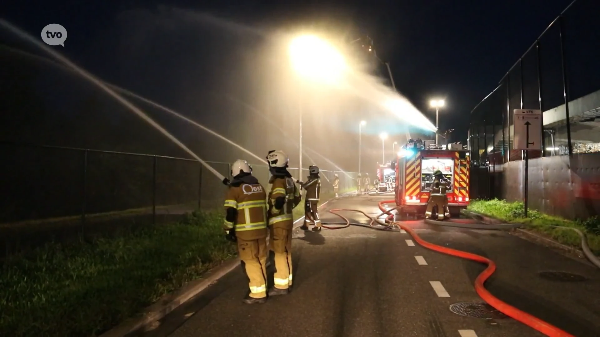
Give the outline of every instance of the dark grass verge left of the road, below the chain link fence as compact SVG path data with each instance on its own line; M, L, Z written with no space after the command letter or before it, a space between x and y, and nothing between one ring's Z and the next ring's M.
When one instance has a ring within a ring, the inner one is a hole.
M220 213L92 243L48 243L0 267L0 336L97 336L235 255Z

